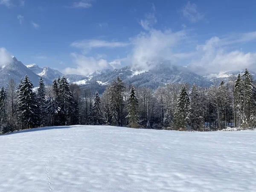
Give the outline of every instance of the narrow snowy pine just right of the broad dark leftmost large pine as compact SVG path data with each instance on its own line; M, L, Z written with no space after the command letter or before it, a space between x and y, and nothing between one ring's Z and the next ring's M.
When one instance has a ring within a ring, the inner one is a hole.
M41 126L47 125L47 101L45 98L45 85L44 80L40 77L38 83L38 90L36 95L37 103L38 103L38 116L39 122Z

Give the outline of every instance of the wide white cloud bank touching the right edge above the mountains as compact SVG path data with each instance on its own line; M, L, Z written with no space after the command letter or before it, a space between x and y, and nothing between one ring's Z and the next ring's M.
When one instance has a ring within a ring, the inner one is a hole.
M212 37L203 45L197 46L197 59L189 68L198 74L218 73L220 71L256 70L256 52L242 52L241 49L230 50L227 45L256 40L256 32L234 35L233 38Z

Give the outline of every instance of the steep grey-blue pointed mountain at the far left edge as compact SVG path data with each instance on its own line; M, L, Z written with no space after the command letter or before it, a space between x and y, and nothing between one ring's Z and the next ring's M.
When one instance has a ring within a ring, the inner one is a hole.
M23 79L25 75L29 76L30 81L32 81L36 87L40 76L35 74L32 70L29 70L22 62L18 61L17 58L13 56L11 62L0 67L0 86L6 86L10 79L13 79L18 84L20 79ZM45 78L44 81L46 84L51 83Z

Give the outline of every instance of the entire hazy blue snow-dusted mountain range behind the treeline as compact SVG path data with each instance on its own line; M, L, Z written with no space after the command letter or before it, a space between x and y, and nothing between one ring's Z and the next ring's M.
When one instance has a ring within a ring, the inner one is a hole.
M156 67L148 71L134 70L126 66L120 69L96 71L88 77L74 74L65 76L70 83L93 87L106 87L106 85L117 76L120 76L127 84L134 84L136 87L151 87L156 89L167 83L188 83L208 87L212 84L211 80L213 79L227 79L231 74L238 73L241 72L234 71L200 76L190 71L187 67L175 66L165 61L157 64ZM37 64L25 66L13 56L11 62L6 63L0 68L0 85L5 85L10 79L19 82L25 75L29 76L29 79L36 87L40 76L44 78L46 84L51 84L53 79L58 78L58 76L63 76L64 74L47 66L43 68L39 67ZM252 75L254 76L253 72Z

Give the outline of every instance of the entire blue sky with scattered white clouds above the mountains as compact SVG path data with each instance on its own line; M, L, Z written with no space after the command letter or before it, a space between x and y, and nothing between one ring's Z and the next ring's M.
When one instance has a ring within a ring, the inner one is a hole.
M255 70L255 10L253 0L0 0L0 55L83 75L163 60Z

